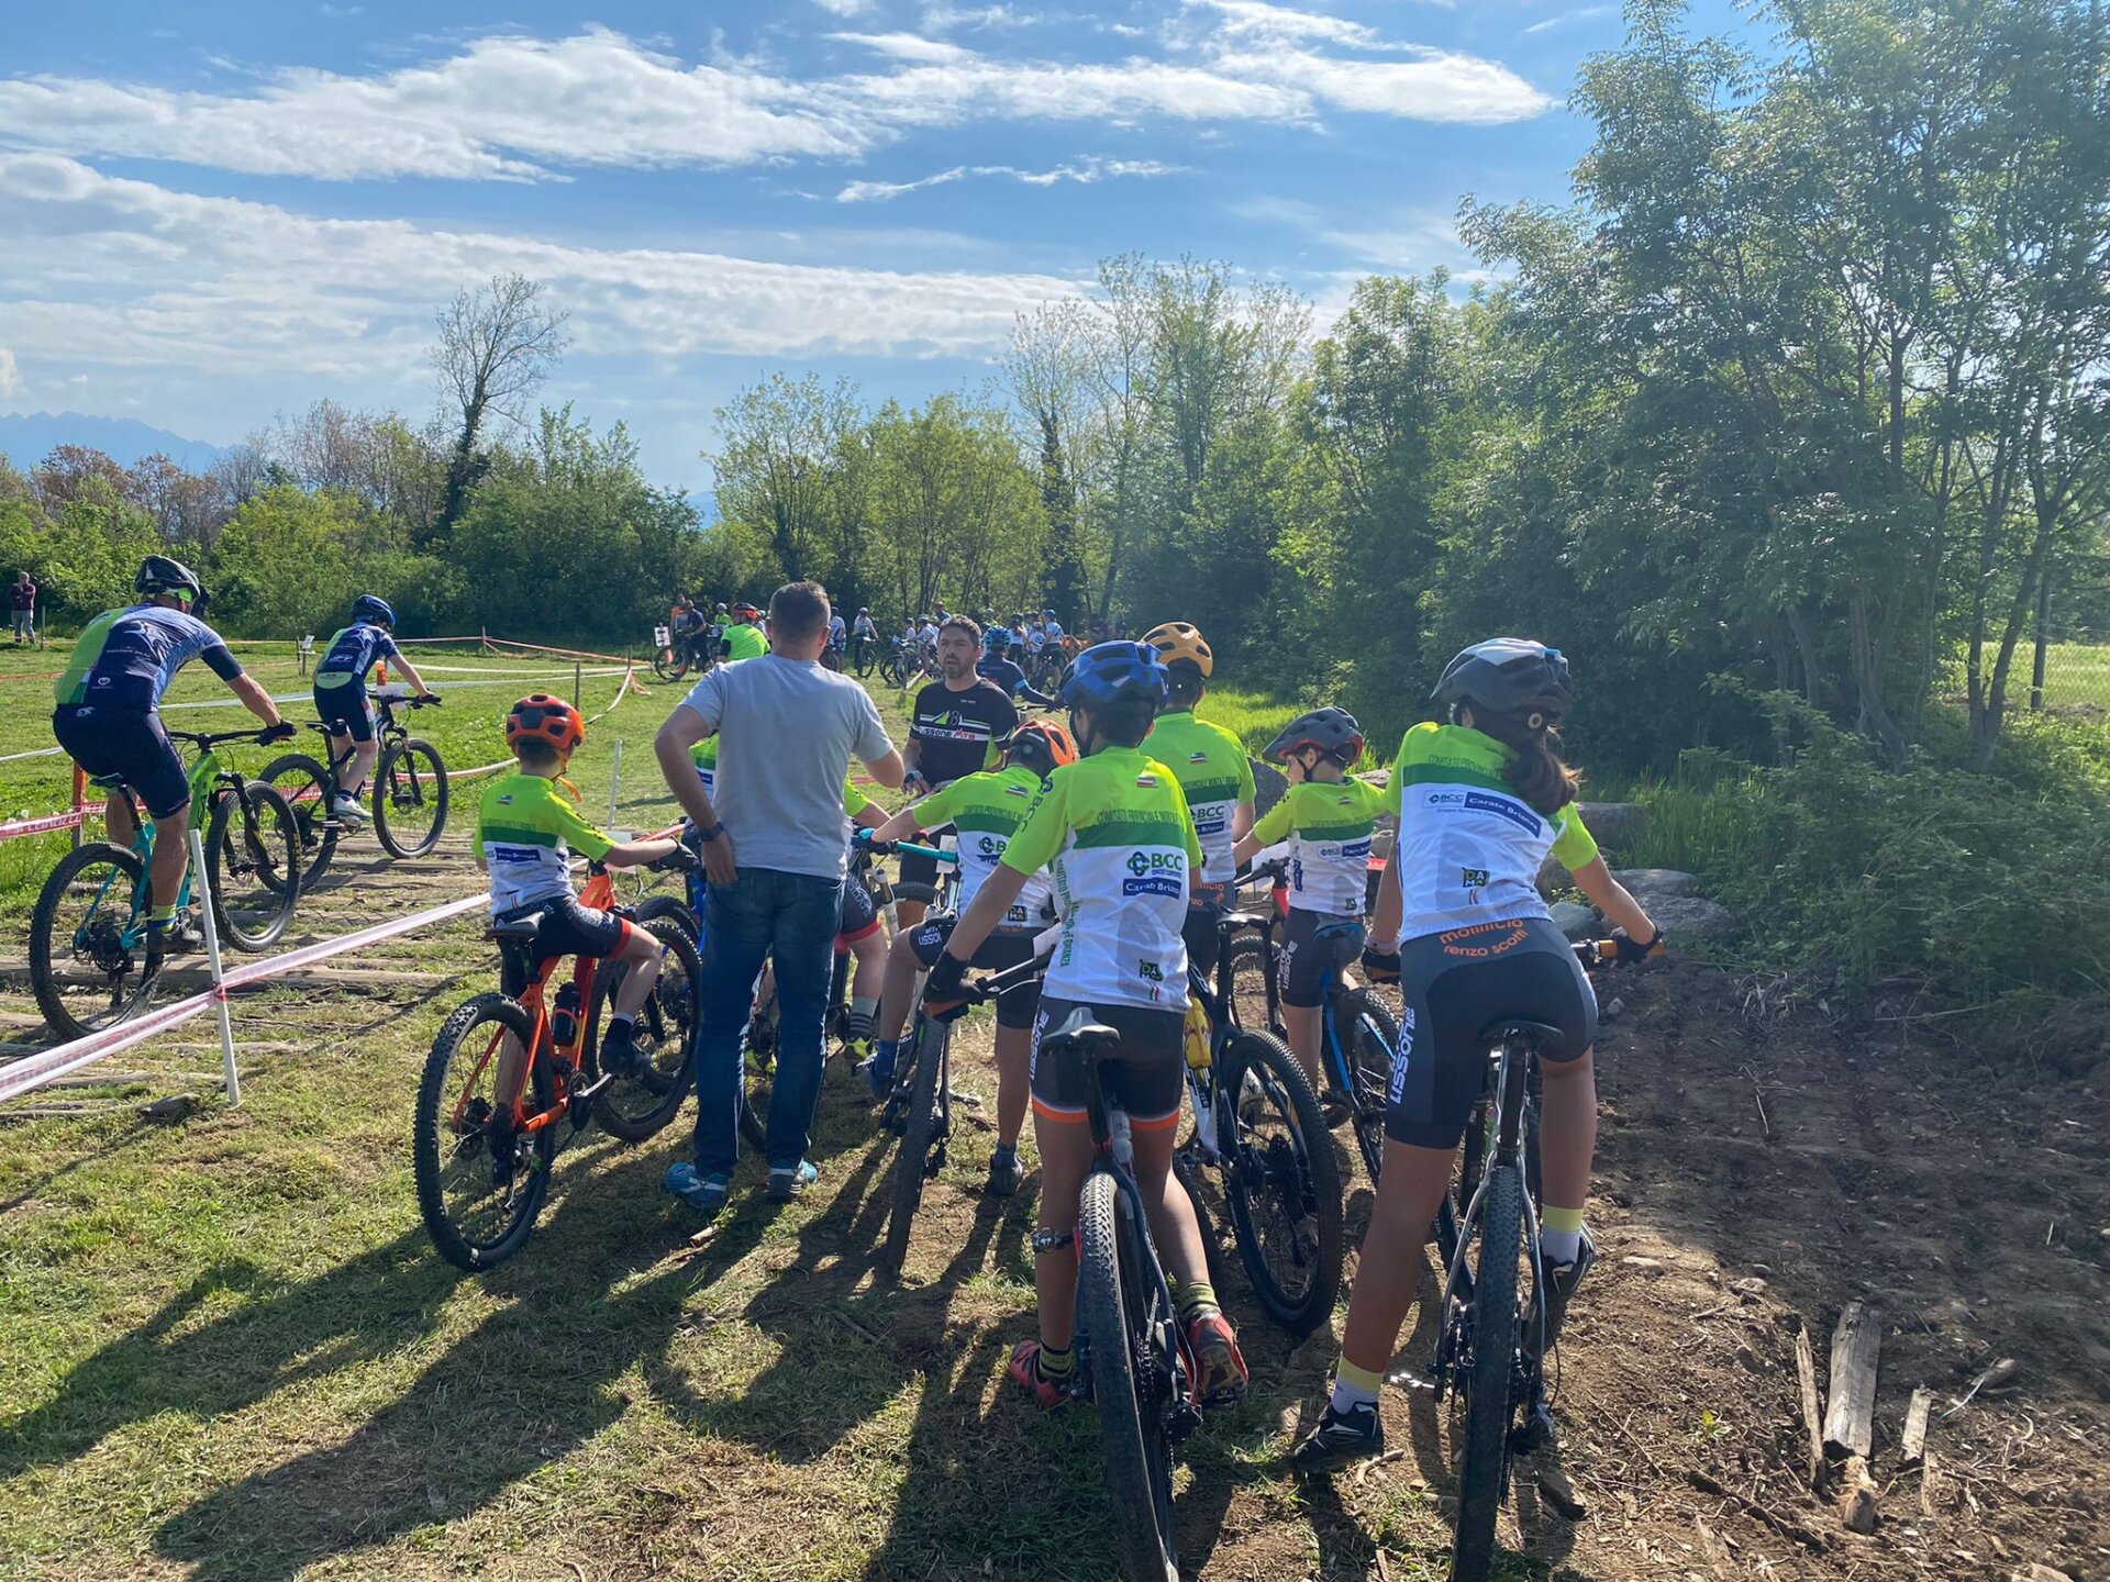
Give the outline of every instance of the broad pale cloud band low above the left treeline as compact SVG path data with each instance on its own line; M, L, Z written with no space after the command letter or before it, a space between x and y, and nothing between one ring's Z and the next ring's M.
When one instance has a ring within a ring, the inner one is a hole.
M0 344L91 367L424 382L433 306L549 281L584 356L987 356L1049 274L890 272L597 249L401 219L314 219L0 154Z

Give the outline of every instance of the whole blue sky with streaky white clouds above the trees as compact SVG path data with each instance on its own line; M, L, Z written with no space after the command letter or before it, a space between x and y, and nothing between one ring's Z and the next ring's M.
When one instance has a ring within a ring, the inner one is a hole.
M1696 15L1732 21L1728 0ZM1095 259L1230 259L1321 325L1471 268L1462 194L1561 200L1561 0L8 4L0 411L232 443L316 397L433 407L433 310L549 281L549 388L709 485L770 369L977 388Z

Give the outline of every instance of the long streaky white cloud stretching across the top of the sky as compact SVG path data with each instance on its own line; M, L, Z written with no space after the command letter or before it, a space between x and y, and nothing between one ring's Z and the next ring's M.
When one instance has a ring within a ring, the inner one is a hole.
M909 129L975 120L1308 122L1336 108L1494 122L1553 103L1496 61L1382 44L1359 23L1264 0L1211 0L1201 11L1220 25L1198 59L1009 59L880 32L840 38L878 51L888 70L791 80L730 57L688 65L589 30L561 40L479 38L376 76L283 70L230 93L15 78L0 80L0 146L340 181L521 181L595 165L859 158ZM1414 59L1323 55L1300 40Z

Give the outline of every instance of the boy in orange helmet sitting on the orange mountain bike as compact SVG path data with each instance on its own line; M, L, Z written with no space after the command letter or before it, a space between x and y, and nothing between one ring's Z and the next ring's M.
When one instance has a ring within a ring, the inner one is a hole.
M563 698L536 692L513 705L506 747L519 759L519 772L494 780L477 804L477 867L492 875L496 922L540 918L540 960L595 956L631 968L601 1034L601 1069L635 1076L637 1012L658 981L660 943L625 918L578 905L572 852L608 867L644 867L673 856L677 842L612 842L578 814L557 791L557 778L584 740L587 721ZM509 985L509 991L515 987Z

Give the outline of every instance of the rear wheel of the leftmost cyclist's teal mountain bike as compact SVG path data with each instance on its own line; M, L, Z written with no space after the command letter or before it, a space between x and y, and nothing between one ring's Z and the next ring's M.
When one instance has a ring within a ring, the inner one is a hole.
M154 998L143 873L139 852L91 842L44 880L30 915L30 989L59 1038L116 1027Z

